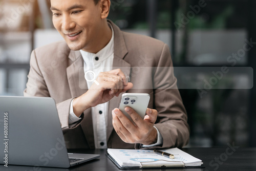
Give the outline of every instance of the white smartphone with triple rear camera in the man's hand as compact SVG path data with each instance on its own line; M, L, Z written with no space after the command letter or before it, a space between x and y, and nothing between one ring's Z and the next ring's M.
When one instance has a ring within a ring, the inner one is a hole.
M148 102L150 101L150 95L147 93L124 93L119 105L119 110L132 122L133 119L127 114L124 109L129 106L135 110L143 119L146 114Z

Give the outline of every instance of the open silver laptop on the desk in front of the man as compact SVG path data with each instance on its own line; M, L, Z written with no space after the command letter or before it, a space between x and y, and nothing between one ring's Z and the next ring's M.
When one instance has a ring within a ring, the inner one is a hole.
M68 168L100 157L68 154L49 97L0 96L0 142L0 163L5 165Z

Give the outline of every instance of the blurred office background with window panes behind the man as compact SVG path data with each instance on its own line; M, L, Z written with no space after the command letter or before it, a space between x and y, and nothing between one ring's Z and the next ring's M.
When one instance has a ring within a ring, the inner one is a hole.
M256 1L111 2L109 18L123 31L170 47L188 113L188 147L256 146ZM49 8L45 0L0 0L0 95L23 96L32 50L62 40ZM214 82L224 66L235 70Z

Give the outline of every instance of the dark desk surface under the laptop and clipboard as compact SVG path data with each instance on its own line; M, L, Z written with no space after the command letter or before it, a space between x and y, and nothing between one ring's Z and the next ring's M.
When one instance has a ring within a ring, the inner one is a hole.
M172 169L136 169L136 170L186 170L186 171L208 171L208 170L256 170L256 148L233 148L215 147L215 148L183 148L183 151L203 160L205 168L172 168ZM99 159L83 163L79 166L65 168L51 167L33 167L33 166L15 166L0 165L0 170L18 170L18 171L45 171L45 170L119 170L106 156L106 149L95 149L88 151L70 151L71 153L100 154ZM127 170L127 169L126 169ZM131 169L135 170L135 169Z

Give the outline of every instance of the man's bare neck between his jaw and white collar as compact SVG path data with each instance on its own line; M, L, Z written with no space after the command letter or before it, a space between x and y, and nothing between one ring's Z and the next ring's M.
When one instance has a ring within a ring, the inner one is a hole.
M103 28L103 29L102 29ZM90 53L97 53L101 49L103 49L108 43L110 42L112 38L112 30L108 25L108 22L105 20L102 22L102 26L100 27L100 30L98 31L98 35L95 37L95 41L93 41L92 44L88 48L82 49L83 51L87 51Z

